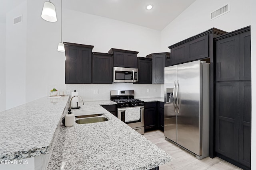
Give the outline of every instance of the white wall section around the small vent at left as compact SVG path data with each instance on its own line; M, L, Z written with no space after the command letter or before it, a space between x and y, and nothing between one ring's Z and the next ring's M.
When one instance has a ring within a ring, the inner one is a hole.
M6 14L6 109L26 103L26 1ZM13 19L22 15L22 22Z

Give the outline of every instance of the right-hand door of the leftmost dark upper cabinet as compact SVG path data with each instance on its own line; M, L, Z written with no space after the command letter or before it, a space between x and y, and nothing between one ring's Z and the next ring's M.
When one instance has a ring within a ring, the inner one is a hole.
M92 52L90 49L81 48L81 83L92 82Z

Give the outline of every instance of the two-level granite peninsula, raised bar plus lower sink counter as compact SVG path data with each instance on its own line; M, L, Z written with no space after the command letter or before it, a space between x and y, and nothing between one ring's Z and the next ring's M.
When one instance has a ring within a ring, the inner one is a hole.
M112 101L85 102L73 111L97 111L108 121L64 127L60 120L67 102L68 96L45 97L1 112L0 160L49 154L47 169L67 170L151 169L171 161L169 154L100 106Z

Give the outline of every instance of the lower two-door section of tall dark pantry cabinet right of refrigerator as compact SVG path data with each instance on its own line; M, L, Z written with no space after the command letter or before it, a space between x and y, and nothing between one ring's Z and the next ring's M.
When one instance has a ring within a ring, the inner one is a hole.
M217 156L243 169L251 162L251 82L216 83Z

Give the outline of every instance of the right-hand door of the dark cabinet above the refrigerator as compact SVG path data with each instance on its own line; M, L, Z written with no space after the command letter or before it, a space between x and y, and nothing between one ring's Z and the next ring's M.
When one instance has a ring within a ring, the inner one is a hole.
M193 61L208 57L208 35L194 39L188 43L189 46L189 59Z

